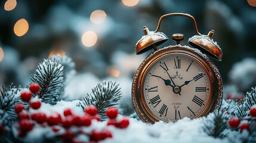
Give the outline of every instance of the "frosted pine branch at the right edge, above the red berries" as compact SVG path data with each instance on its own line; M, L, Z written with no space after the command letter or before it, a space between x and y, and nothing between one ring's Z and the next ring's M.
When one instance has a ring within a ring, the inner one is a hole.
M247 92L245 98L238 103L234 111L231 113L233 116L243 118L248 115L248 111L253 105L256 104L256 87L252 88L251 92Z

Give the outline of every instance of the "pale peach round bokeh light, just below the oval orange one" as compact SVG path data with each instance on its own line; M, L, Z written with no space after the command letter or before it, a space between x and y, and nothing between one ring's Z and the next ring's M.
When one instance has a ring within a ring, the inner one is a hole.
M82 43L85 46L90 47L90 46L95 45L95 43L97 42L97 39L98 39L98 37L95 32L87 31L82 36Z

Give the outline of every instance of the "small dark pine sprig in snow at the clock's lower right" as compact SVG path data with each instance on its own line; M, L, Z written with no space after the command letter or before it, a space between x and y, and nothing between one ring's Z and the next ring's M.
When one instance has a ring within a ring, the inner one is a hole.
M223 131L227 129L227 120L229 119L226 111L214 111L213 119L208 119L205 122L203 129L209 136L214 138L224 138L227 134L224 134Z

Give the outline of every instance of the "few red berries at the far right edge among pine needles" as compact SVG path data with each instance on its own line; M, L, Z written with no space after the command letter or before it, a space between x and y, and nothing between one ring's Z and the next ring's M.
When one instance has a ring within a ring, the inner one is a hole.
M256 117L256 107L251 108L250 115L251 115L251 117ZM237 117L232 117L232 119L229 120L230 128L236 129L240 125L240 131L241 132L243 130L249 130L249 128L250 128L249 123L240 124L240 120L243 120L243 119L238 119Z

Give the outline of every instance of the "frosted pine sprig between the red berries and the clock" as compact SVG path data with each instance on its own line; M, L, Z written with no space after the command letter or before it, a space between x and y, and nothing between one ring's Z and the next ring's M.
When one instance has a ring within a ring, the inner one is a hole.
M85 110L88 105L95 105L101 120L106 119L105 112L107 107L118 105L117 102L121 98L121 91L118 86L119 85L116 85L116 83L104 81L102 84L98 84L93 88L92 94L87 94L87 96L84 97L84 101L79 102L79 104L83 110Z

